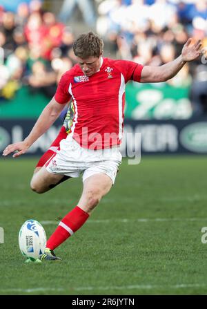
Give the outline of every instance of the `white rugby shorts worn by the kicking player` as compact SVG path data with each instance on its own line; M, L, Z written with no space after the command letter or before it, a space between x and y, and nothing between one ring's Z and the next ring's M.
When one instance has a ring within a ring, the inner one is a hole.
M69 177L83 174L83 181L94 174L106 174L114 183L121 158L119 147L86 149L68 135L66 140L61 140L60 150L46 163L46 169L51 174Z

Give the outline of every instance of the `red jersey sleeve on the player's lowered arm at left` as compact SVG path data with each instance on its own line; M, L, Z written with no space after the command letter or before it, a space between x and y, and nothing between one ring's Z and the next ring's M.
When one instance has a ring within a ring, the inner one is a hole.
M57 86L57 91L55 93L55 100L59 104L66 104L71 99L71 95L68 92L68 74L63 74Z

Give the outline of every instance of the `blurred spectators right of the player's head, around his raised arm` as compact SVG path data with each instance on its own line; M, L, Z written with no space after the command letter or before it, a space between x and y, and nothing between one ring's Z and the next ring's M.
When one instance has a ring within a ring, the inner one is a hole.
M97 32L117 58L160 66L181 54L188 37L207 46L206 0L103 0L97 11ZM200 57L168 81L190 88L194 115L207 114L206 62Z

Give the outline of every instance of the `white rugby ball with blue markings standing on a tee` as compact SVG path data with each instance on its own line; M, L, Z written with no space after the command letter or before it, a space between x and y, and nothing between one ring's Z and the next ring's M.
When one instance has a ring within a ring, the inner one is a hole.
M19 249L23 256L38 259L46 248L46 232L36 220L28 220L19 230Z

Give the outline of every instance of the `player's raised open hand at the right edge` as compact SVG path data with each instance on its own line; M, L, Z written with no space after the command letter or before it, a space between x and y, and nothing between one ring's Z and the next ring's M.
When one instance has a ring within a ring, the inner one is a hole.
M182 57L184 62L189 62L192 60L197 59L199 55L201 55L201 40L195 42L195 44L192 44L193 39L190 38L188 41L186 41L186 44L184 45L184 48L182 49Z

